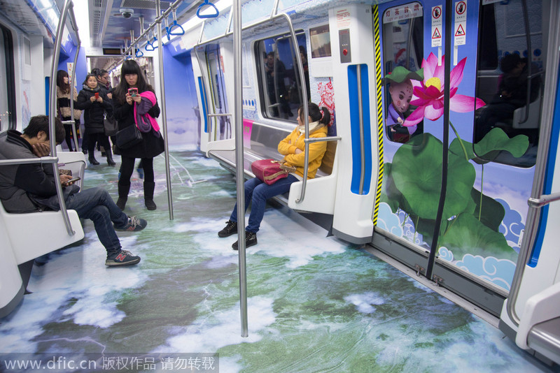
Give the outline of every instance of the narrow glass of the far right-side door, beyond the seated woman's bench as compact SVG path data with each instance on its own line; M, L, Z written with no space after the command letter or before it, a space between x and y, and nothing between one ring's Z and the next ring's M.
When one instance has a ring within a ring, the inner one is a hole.
M210 79L210 98L214 106L215 114L228 112L228 102L225 96L225 79L223 75L223 61L220 49L216 45L208 45L206 52L208 75ZM228 116L220 116L211 119L212 125L216 126L214 140L224 140L232 137L231 120Z

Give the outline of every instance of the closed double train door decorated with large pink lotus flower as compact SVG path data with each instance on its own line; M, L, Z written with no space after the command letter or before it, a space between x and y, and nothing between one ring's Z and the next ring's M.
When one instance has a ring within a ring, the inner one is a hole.
M498 315L533 184L549 2L451 3L374 8L384 170L373 244Z

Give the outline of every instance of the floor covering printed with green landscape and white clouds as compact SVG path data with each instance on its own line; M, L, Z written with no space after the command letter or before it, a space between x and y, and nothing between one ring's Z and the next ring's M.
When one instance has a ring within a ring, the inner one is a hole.
M148 227L119 236L141 263L107 268L86 221L82 242L36 260L32 293L0 319L0 364L24 352L217 353L220 372L549 371L500 330L286 207L267 208L247 249L241 337L237 237L216 234L235 203L235 178L200 152L172 155L174 220L163 157L158 210L146 210L133 175L125 212ZM85 186L116 200L118 165L89 166Z

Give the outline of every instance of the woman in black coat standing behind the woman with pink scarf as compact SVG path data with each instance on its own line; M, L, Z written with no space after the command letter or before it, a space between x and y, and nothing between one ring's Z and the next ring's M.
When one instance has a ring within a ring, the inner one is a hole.
M78 109L85 110L83 121L85 133L87 133L87 152L89 153L90 163L98 165L95 159L95 142L104 147L107 163L109 166L115 166L113 161L113 153L109 138L105 136L104 116L106 111L111 111L111 101L107 95L97 85L97 77L94 74L87 74L83 82L83 89L78 94Z

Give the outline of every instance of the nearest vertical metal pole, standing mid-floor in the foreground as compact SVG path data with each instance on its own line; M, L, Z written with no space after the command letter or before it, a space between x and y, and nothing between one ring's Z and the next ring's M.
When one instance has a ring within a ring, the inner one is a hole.
M241 0L234 0L233 13L233 71L235 164L237 183L237 241L239 247L239 305L241 306L241 337L248 337L247 326L247 268L245 258L245 187L243 154L243 87L241 86Z

